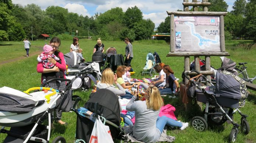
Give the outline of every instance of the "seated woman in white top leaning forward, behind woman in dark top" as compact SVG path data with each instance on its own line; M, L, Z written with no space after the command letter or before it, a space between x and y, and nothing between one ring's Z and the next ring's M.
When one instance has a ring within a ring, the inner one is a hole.
M151 83L154 84L156 87L164 87L166 84L166 73L164 73L160 65L155 65L154 69L156 70L157 73L159 73L159 76L155 81Z

